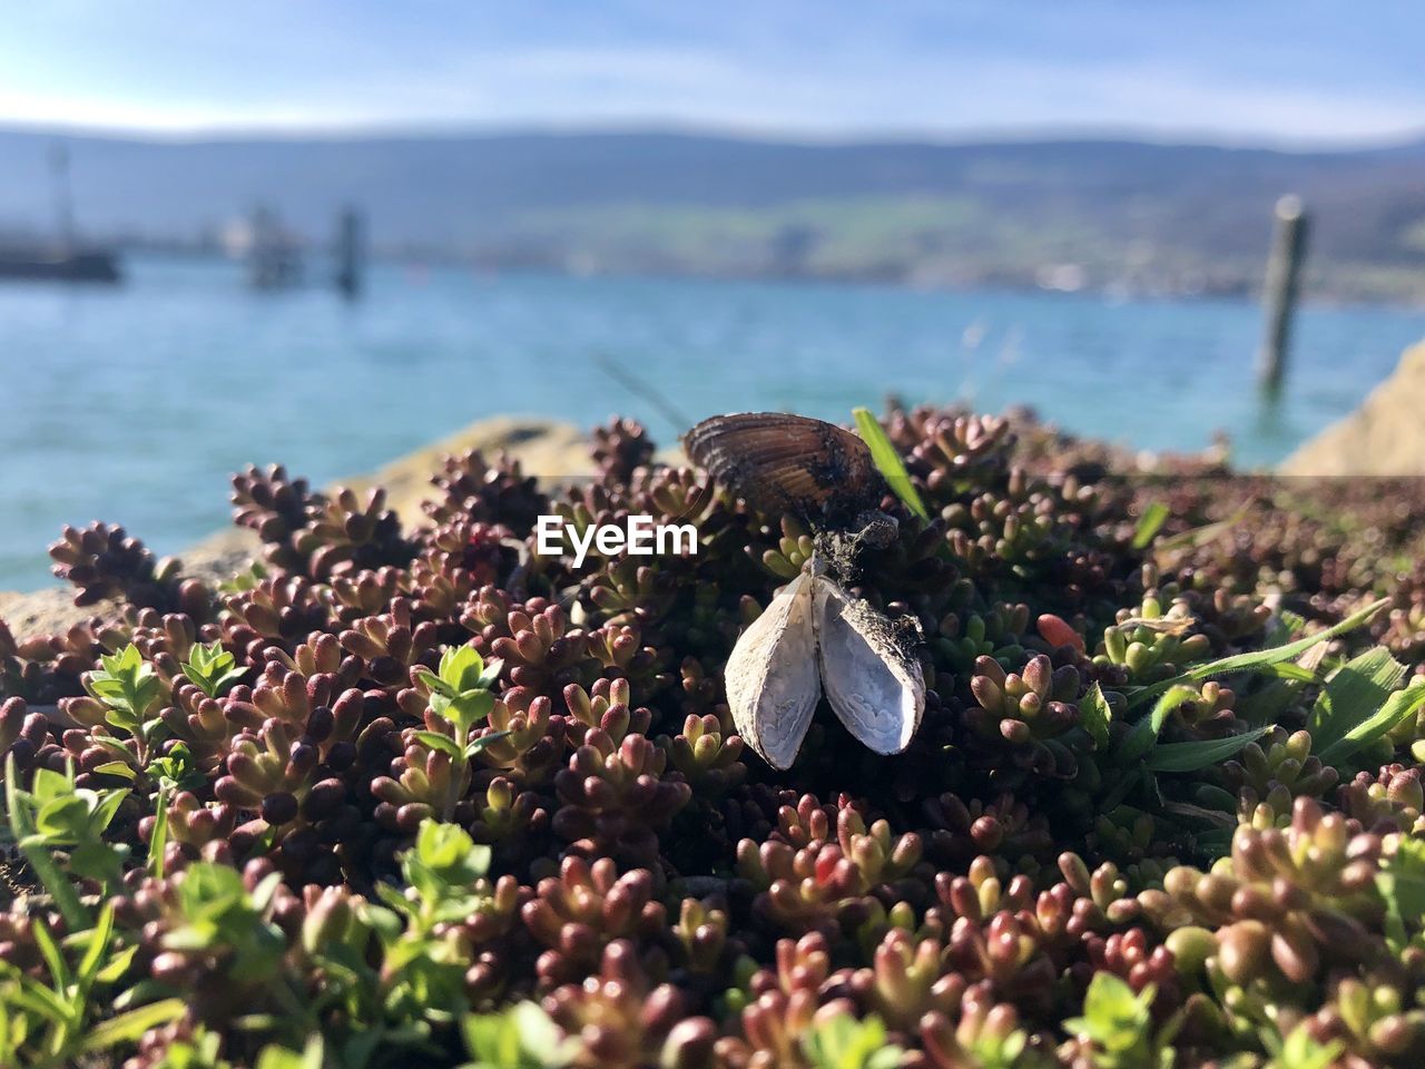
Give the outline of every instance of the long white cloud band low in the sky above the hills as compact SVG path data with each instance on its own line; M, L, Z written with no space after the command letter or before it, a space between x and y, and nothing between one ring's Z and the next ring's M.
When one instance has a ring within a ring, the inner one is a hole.
M326 71L248 98L41 93L0 83L0 120L141 128L690 124L809 137L936 137L1052 128L1307 144L1418 131L1425 93L1251 83L1186 66L1070 64L842 51L760 60L703 47L472 50L419 71Z

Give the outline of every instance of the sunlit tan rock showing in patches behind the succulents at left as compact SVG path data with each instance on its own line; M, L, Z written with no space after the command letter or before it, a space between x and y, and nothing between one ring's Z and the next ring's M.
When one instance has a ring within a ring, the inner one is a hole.
M594 470L589 456L589 439L573 425L547 419L496 416L477 420L465 430L408 453L370 475L343 479L341 485L358 492L385 486L388 507L395 509L408 527L415 527L425 519L420 502L432 490L430 476L439 470L440 459L447 453L463 453L467 449L487 453L504 449L520 460L527 475L550 482L586 476ZM251 567L259 554L261 543L254 532L229 527L177 556L184 563L185 576L217 586ZM73 597L67 586L31 593L0 592L0 620L9 624L17 639L23 639L64 631L93 616L108 616L114 611L113 603L101 601L78 607Z

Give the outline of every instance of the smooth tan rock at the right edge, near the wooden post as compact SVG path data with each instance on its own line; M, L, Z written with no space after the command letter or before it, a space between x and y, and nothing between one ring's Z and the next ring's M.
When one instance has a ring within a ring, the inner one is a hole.
M1425 475L1425 342L1355 412L1288 456L1278 472L1297 476Z

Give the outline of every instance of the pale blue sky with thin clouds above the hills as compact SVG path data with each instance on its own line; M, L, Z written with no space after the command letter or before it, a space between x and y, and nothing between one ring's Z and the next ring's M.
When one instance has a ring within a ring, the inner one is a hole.
M0 123L1369 143L1425 131L1422 40L1425 0L44 0Z

